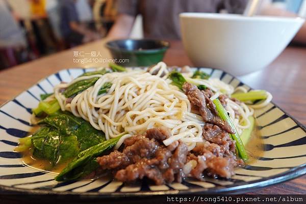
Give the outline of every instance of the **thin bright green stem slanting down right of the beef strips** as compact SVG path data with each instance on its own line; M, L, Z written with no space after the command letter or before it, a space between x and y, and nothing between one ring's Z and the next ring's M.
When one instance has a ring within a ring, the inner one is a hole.
M240 136L238 135L237 130L235 128L235 125L233 124L230 116L227 114L226 110L222 106L222 104L219 101L219 99L215 99L215 100L213 100L213 102L216 105L216 109L217 109L217 111L219 113L220 118L223 121L227 122L228 125L230 125L231 128L233 130L235 130L235 132L236 132L235 134L231 134L231 137L232 137L232 139L234 139L236 141L236 148L237 148L237 151L238 151L238 154L239 154L240 158L244 159L244 160L247 159L248 156L247 156L247 153L245 151L243 142L241 141Z

